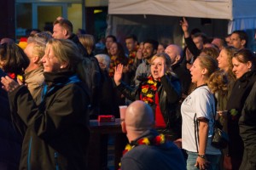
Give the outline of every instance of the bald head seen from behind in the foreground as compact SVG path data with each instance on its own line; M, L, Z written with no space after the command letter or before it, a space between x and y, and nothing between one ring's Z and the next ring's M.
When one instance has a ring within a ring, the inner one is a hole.
M154 127L154 114L149 105L141 100L131 103L125 112L122 130L129 141L137 139L142 133Z

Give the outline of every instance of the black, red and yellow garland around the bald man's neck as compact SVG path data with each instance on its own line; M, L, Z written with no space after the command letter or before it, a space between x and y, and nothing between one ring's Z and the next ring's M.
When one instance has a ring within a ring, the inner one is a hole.
M164 134L160 134L158 136L155 136L154 138L148 139L148 138L142 138L138 139L137 141L131 141L131 144L126 144L125 150L123 151L123 156L133 149L134 147L138 145L155 145L158 146L160 144L166 143L166 137ZM121 167L121 163L119 163L119 167ZM120 169L120 168L119 168Z

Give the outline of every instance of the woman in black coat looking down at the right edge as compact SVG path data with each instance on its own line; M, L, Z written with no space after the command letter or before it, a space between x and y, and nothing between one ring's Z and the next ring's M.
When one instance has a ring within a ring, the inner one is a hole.
M244 147L239 134L238 121L247 96L253 87L253 83L256 81L256 58L249 49L243 48L234 54L232 63L234 65L233 72L236 75L236 82L231 90L226 108L228 111L227 125L230 137L226 164L232 166L233 169L238 169L241 164Z

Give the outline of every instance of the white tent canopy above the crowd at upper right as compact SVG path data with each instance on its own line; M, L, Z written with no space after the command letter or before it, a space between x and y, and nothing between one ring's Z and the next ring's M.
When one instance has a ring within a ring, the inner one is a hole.
M109 0L108 14L156 14L230 20L228 32L256 28L256 0Z

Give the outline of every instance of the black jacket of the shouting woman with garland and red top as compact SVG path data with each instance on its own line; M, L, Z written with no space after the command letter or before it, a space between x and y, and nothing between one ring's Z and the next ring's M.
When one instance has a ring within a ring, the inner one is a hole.
M146 80L148 81L148 80ZM166 122L166 130L172 130L177 135L177 105L181 97L181 85L178 78L172 74L168 73L160 78L160 86L157 91L159 94L160 111L163 114L164 120ZM142 91L141 82L136 88L130 88L124 82L121 82L117 87L119 91L125 95L126 98L132 101L140 99L140 94ZM154 105L150 105L154 111ZM162 132L165 133L165 132Z

